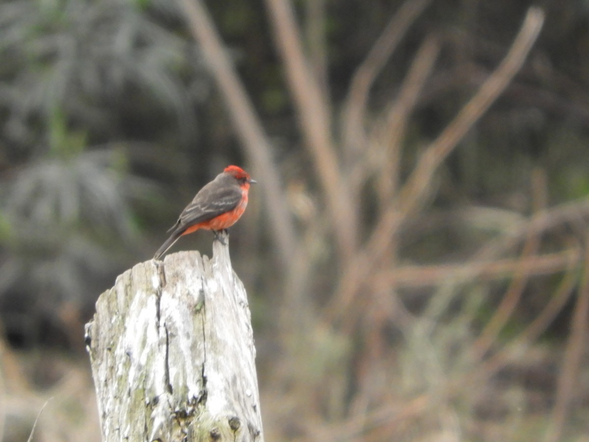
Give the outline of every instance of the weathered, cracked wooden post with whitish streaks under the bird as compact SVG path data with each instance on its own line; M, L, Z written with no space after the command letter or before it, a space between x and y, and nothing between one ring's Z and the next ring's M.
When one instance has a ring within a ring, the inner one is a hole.
M118 276L86 343L103 441L263 441L250 311L228 245Z

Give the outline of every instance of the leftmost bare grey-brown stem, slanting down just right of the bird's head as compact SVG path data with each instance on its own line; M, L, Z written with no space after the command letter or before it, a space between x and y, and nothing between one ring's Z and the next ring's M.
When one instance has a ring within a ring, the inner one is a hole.
M272 148L262 123L256 115L252 101L221 44L213 21L201 0L180 0L194 39L200 44L209 64L212 77L217 81L227 111L233 121L249 160L254 164L254 173L262 184L266 200L267 216L279 250L283 266L288 266L294 249L295 235L286 197L280 183L279 171L272 160Z

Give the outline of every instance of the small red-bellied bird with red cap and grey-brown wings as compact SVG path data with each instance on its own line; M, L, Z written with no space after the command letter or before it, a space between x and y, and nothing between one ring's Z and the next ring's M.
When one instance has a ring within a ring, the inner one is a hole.
M215 238L219 239L218 232L233 226L243 215L247 206L247 192L250 184L255 182L241 167L227 166L223 173L200 189L180 213L176 224L170 229L173 233L155 252L153 259L160 259L180 236L198 229L213 230Z

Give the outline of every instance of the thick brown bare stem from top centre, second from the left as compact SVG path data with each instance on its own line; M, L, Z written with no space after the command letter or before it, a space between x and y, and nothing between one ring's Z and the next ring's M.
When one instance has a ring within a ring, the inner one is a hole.
M343 179L332 141L328 100L317 84L302 48L292 5L266 0L277 48L284 62L288 87L296 104L305 144L313 156L315 173L323 188L340 258L347 262L356 249L356 210Z

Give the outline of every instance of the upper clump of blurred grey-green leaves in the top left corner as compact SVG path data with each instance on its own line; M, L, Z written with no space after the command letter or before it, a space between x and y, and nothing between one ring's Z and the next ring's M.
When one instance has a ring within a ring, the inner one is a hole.
M56 109L64 123L104 141L117 136L121 105L140 107L147 97L152 114L171 113L193 132L193 97L182 78L197 62L188 57L191 44L129 2L3 2L0 16L0 55L15 61L3 64L0 108L14 141L30 144L31 126L41 135L39 120L52 120Z

